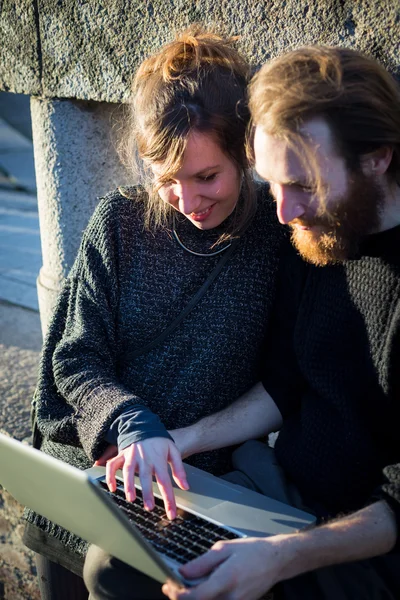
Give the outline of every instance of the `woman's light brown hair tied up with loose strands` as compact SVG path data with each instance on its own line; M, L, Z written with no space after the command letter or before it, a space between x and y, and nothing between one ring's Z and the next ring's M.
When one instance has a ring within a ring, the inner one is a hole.
M242 231L254 212L245 152L250 69L233 42L192 25L147 58L136 73L121 154L125 165L144 178L148 227L164 225L174 210L158 190L179 170L191 132L212 135L243 175L241 206L227 235ZM157 184L150 172L155 162L163 165Z

